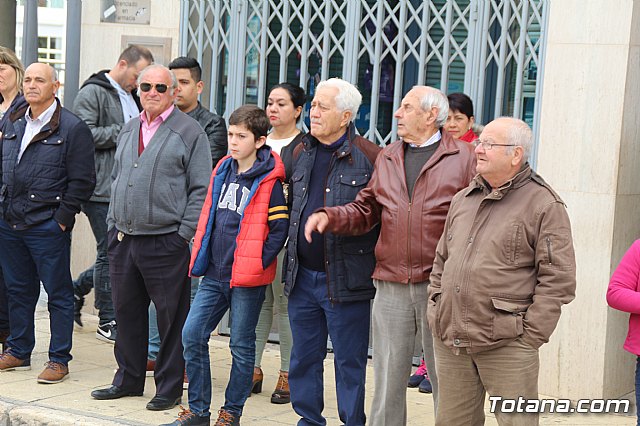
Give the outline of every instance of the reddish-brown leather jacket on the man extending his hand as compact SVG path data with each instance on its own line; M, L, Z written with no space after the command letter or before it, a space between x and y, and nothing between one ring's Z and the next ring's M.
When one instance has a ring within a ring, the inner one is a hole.
M399 283L429 279L436 245L449 204L476 170L473 147L441 129L440 146L423 166L409 201L404 170L404 142L382 150L369 184L355 201L321 209L328 232L360 235L380 222L373 278Z

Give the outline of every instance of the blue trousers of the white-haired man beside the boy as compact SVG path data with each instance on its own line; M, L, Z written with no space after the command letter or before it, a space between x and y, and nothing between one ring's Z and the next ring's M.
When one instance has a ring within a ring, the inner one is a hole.
M331 303L327 274L298 269L289 295L293 335L289 386L298 425L326 425L324 359L331 336L340 420L347 426L365 424L364 390L369 345L370 301Z

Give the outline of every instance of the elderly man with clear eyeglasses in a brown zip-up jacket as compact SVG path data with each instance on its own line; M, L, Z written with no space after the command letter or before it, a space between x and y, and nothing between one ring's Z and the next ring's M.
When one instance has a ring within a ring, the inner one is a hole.
M529 126L489 123L478 175L451 202L429 287L440 398L437 425L483 424L485 392L538 398L538 348L573 300L576 266L564 203L529 166ZM537 425L501 411L500 425ZM517 410L516 410L517 411Z

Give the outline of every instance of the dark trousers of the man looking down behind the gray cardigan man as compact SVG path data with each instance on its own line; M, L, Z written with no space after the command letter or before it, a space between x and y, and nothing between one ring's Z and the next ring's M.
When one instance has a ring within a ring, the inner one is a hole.
M109 257L107 256L107 212L109 203L87 202L82 211L89 219L91 231L96 239L96 261L82 272L73 282L73 291L79 296L95 290L95 307L98 310L100 324L113 321L116 316L111 298L111 280L109 279Z

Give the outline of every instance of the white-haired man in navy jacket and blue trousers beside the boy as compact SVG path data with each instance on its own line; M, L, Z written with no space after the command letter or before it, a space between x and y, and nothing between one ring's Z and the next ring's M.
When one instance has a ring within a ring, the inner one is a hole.
M311 133L293 153L293 197L284 292L293 336L289 386L299 425L324 425L323 371L331 337L340 420L364 425L369 343L369 307L374 229L357 237L304 236L304 223L318 208L346 204L371 178L380 147L356 136L352 121L362 96L352 84L332 78L318 84L311 102Z

